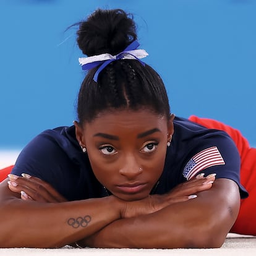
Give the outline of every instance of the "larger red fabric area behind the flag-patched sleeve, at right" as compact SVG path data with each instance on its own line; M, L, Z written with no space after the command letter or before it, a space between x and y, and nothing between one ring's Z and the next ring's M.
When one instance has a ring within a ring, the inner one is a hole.
M210 129L224 130L234 140L241 156L241 184L249 197L241 200L241 208L231 232L256 235L256 148L251 148L239 130L221 122L190 116L190 121Z

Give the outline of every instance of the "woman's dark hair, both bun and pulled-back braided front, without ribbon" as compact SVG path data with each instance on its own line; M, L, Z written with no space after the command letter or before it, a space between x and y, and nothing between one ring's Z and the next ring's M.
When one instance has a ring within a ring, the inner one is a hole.
M132 15L121 9L98 9L77 23L77 43L83 54L121 53L137 39ZM113 61L93 80L97 67L88 71L77 100L79 122L92 121L97 114L113 109L147 108L169 117L166 88L160 76L135 59Z

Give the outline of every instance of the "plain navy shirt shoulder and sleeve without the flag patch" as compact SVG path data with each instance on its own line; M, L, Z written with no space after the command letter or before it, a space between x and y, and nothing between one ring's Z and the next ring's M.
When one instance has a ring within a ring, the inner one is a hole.
M45 130L23 148L12 173L48 182L68 200L87 198L93 184L88 156L80 150L74 126ZM86 186L86 187L85 187Z

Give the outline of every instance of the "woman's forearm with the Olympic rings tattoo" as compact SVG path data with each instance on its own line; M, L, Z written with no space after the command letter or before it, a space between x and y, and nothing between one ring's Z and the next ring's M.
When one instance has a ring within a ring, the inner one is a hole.
M1 200L0 215L0 247L62 247L120 218L114 197L65 203L13 198Z

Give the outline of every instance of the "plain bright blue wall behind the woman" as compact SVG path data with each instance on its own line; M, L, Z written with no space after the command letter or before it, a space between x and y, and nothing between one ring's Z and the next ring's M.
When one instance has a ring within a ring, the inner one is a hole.
M72 124L82 54L64 30L98 7L134 14L173 113L226 122L256 145L256 1L1 0L0 148Z

